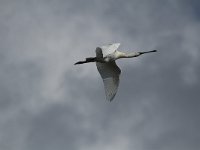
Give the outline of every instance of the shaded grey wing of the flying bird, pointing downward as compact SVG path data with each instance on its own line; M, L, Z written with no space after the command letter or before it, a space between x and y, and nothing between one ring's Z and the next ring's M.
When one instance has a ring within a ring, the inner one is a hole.
M97 69L103 79L106 99L112 101L119 86L120 68L113 62L96 62Z

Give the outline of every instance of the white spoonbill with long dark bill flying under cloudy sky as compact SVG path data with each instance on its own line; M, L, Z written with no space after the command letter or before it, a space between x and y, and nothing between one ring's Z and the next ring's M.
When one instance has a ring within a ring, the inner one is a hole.
M121 69L116 60L121 58L133 58L157 50L124 53L118 50L120 43L113 43L96 48L96 57L88 57L84 61L78 61L74 65L96 62L97 70L103 79L106 99L112 101L117 93Z

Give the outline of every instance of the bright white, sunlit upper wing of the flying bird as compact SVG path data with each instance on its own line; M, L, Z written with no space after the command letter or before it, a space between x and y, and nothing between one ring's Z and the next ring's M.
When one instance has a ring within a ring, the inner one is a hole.
M108 44L108 45L102 46L101 49L103 52L103 57L116 51L119 46L120 46L120 43L113 43L113 44Z

